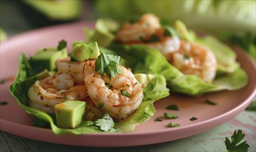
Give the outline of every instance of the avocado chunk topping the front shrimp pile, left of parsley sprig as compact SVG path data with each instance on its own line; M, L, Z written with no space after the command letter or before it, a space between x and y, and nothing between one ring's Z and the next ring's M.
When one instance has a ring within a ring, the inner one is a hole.
M83 61L85 59L97 59L100 54L97 42L93 41L89 44L76 44L70 57L73 61Z

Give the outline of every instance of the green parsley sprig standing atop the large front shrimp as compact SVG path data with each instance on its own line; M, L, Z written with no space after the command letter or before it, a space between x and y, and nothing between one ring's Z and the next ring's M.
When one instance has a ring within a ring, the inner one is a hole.
M96 59L95 70L99 71L100 75L108 75L108 78L116 77L117 73L121 73L121 69L118 67L121 58L117 55L107 55L101 53Z

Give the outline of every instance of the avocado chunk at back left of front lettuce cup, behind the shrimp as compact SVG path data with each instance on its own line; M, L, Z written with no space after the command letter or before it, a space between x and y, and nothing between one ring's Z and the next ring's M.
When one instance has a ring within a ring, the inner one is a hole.
M42 70L54 70L56 68L55 61L57 59L66 58L67 49L62 48L62 50L57 50L57 48L44 48L37 50L37 53L30 59L30 64L33 69L37 72Z

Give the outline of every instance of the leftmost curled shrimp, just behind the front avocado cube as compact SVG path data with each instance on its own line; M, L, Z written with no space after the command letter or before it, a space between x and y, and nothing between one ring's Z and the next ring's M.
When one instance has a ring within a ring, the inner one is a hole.
M67 100L83 100L87 97L85 84L74 85L74 79L67 73L56 73L37 80L28 89L29 104L46 113L55 113L54 106Z

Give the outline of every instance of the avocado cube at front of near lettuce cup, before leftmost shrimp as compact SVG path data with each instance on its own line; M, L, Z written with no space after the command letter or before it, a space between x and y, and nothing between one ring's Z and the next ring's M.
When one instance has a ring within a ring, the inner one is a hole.
M74 129L83 120L85 114L85 102L67 101L56 104L57 126L65 129Z

